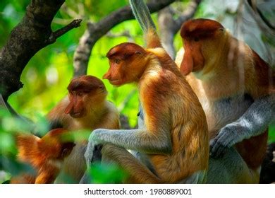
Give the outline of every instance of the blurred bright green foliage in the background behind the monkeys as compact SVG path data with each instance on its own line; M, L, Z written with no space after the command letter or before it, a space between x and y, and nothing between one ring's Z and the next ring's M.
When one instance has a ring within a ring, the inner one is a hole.
M188 5L188 1L184 2L183 8ZM11 30L23 17L26 6L29 3L30 0L1 0L0 47L5 44ZM25 67L20 78L24 87L20 91L13 93L8 102L20 115L34 121L36 125L35 129L32 124L26 126L20 120L14 120L8 112L0 111L0 164L2 166L5 165L5 167L0 167L0 169L4 168L4 170L14 174L14 171L9 168L18 167L14 160L16 157L16 146L13 139L14 132L18 132L18 129L21 132L30 132L30 130L34 129L32 131L40 132L41 135L47 132L47 122L44 120L44 115L67 93L66 87L73 77L73 53L78 46L81 35L85 31L87 21L97 22L111 13L111 11L115 11L126 4L128 4L127 0L66 0L66 4L61 7L54 18L51 25L52 30L63 27L75 18L82 18L82 25L80 28L75 28L60 37L54 44L40 50ZM195 17L219 18L220 20L228 21L228 18L236 16L234 12L213 9L213 5L217 6L212 1L203 1ZM157 23L157 14L155 13L152 16L155 23ZM116 25L111 30L111 34L116 35L125 31L130 33L130 37L105 35L96 43L90 57L87 74L102 78L109 68L108 60L105 57L106 52L114 45L118 45L121 42L136 42L144 45L142 30L135 20ZM176 35L174 43L176 50L179 50L182 46L179 34ZM108 99L118 107L120 112L128 116L130 125L134 127L137 124L136 115L138 113L137 88L134 85L115 88L108 81L104 80L104 83L109 91ZM269 127L269 141L275 141L275 124ZM18 168L14 169L17 170ZM90 170L90 173L105 173L106 170L105 172L104 170L104 167L102 170L98 170L96 166ZM111 170L109 174L109 177L118 174L118 180L125 177L122 172L116 172L116 168L114 168L114 171ZM108 180L106 178L100 179L96 176L94 177L94 182L102 183L108 182Z

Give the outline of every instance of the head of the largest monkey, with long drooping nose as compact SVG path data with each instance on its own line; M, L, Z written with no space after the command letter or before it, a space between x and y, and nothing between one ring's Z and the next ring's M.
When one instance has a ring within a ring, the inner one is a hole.
M181 62L181 72L207 69L208 63L219 54L226 42L226 30L221 23L210 19L192 19L181 26L184 56ZM208 68L211 69L211 68Z

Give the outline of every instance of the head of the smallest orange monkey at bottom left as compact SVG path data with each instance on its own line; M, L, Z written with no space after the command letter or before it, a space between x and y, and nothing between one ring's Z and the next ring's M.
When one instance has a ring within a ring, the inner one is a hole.
M75 144L66 129L53 129L37 142L38 149L46 158L63 159L68 156Z

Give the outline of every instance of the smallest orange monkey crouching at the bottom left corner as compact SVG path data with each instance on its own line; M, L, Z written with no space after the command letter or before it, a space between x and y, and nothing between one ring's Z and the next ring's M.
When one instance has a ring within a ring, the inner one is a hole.
M59 174L63 159L75 144L65 129L53 129L41 139L32 134L16 136L18 160L29 164L34 173L20 173L11 178L13 184L49 184Z

